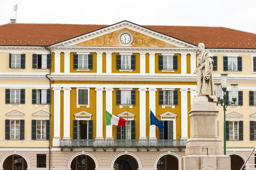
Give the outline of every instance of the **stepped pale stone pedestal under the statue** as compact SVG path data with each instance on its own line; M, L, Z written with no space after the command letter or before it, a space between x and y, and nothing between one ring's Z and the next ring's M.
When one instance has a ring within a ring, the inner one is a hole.
M190 139L185 156L179 160L179 170L230 170L230 156L223 155L218 138L218 110L216 102L206 96L193 99L190 117Z

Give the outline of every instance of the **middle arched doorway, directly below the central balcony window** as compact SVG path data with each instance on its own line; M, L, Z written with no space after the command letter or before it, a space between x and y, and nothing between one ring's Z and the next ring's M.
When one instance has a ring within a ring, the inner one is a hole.
M119 156L114 163L114 170L137 170L137 161L129 155Z

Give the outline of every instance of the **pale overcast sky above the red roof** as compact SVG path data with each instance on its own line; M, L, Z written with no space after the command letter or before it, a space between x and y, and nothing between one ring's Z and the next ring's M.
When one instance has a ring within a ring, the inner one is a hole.
M0 0L0 25L17 23L223 26L256 33L256 0Z

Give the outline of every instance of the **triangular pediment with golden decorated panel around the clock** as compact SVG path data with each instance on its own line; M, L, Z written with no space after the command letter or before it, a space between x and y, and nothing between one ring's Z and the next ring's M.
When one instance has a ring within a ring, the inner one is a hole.
M128 33L131 36L131 42L122 44L120 36ZM175 39L160 32L145 28L143 26L122 21L120 23L101 28L96 31L66 40L56 46L78 46L78 47L168 47L168 48L197 48L188 42Z

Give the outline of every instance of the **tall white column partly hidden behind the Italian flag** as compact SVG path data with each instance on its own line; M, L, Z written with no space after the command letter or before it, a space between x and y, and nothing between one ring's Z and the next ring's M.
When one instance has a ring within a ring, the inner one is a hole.
M106 111L112 114L112 91L113 88L105 88L106 91ZM112 126L106 126L106 138L113 139Z

